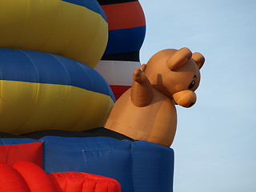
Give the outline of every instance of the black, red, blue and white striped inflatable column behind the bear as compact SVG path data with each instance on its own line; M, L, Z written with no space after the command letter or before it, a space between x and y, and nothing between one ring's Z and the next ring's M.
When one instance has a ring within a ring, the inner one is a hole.
M141 64L139 50L146 34L146 21L138 1L98 0L109 23L109 39L98 70L119 98L132 83Z

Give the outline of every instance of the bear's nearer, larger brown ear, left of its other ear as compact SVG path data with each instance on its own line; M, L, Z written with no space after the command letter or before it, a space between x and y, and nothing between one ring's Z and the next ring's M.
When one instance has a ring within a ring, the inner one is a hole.
M191 51L183 47L180 50L177 50L175 54L173 54L167 60L167 66L170 70L177 70L179 67L185 65L185 63L192 57Z

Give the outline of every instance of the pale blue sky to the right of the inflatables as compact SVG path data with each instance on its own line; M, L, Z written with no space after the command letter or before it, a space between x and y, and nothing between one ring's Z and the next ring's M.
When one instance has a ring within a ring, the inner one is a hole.
M256 1L140 3L142 63L183 46L206 58L198 102L177 107L174 191L256 191Z

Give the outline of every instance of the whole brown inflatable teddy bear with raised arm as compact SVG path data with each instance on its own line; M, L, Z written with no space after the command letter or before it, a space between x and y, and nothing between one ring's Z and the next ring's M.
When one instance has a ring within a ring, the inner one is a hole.
M135 140L170 146L177 126L175 104L196 102L205 58L184 47L154 54L134 70L133 85L114 104L105 127Z

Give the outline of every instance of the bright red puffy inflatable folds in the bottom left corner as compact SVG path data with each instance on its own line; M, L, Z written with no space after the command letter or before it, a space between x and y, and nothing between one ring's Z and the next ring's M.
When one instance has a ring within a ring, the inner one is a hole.
M5 192L121 192L114 178L82 172L47 174L32 162L13 167L0 162L0 191Z

